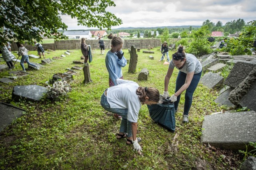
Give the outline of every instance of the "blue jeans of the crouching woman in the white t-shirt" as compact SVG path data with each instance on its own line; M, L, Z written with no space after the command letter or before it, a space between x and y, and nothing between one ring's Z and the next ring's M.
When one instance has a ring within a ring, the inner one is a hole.
M127 137L132 137L132 122L127 120L128 109L110 108L110 105L107 101L107 97L104 93L102 94L101 100L100 100L101 106L106 111L117 113L118 115L120 115L122 117L122 121L121 121L119 132L128 133Z

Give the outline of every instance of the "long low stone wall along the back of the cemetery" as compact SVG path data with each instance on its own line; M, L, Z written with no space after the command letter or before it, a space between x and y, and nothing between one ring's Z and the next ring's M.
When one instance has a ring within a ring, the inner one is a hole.
M170 42L176 42L179 39L170 39ZM159 38L152 38L152 39L134 39L134 40L125 40L123 39L124 49L131 48L132 45L134 45L135 48L141 48L146 49L148 48L148 45L150 47L160 47L161 46L161 40ZM92 49L97 48L98 46L98 40L86 40L86 44L90 44ZM104 40L105 42L105 49L110 49L110 40ZM54 43L42 43L44 49L80 49L80 43L81 40L63 40L63 41L55 41ZM12 51L18 51L16 43L12 42ZM24 44L26 49L33 50L35 47L34 45L27 45Z

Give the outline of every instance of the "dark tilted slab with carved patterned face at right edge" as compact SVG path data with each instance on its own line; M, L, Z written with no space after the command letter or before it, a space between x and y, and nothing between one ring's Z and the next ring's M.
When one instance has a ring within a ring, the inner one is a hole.
M236 88L254 67L256 67L256 64L250 63L249 61L238 61L225 79L224 84Z

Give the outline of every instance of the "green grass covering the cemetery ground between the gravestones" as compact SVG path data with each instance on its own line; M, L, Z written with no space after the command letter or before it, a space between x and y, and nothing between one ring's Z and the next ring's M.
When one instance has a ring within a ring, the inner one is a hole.
M128 65L122 70L124 79L136 81L140 86L156 87L163 93L168 65L158 61L161 54L156 49L153 49L154 54L138 52L137 73L128 73ZM46 87L45 82L51 79L54 73L64 73L66 68L75 65L72 61L80 59L81 51L72 51L71 55L53 60L39 71L28 71L30 75L27 77L19 78L11 84L2 84L1 101L12 102L12 89L15 85L37 84ZM128 50L123 51L124 56L130 59ZM52 59L62 53L64 50L50 51L46 57ZM138 136L142 138L143 156L134 152L132 145L126 145L125 139L116 140L120 121L106 114L100 106L100 97L108 87L105 56L100 55L99 49L92 50L92 53L92 83L83 84L83 72L78 71L71 83L72 91L66 99L45 99L39 103L15 102L27 112L1 132L1 169L178 170L196 167L198 159L206 160L214 169L239 167L242 156L237 158L236 153L231 151L211 150L200 142L204 115L220 111L220 107L214 103L218 93L201 84L194 93L190 122L185 125L182 124L182 94L174 133L153 123L146 105L142 106L138 119ZM29 54L36 55L36 51L30 51ZM150 60L149 55L154 56L154 60ZM31 58L30 61L40 63L40 59ZM5 63L1 61L0 64ZM143 68L150 72L148 81L138 81L138 73ZM14 70L21 70L18 63ZM177 73L178 70L175 69L170 79L170 94L174 93ZM0 78L7 75L7 70L0 72ZM223 159L222 154L228 156L229 160Z

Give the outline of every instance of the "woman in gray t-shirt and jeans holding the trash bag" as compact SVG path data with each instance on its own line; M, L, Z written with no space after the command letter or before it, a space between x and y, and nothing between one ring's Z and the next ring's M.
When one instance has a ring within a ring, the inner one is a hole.
M170 97L170 99L174 102L174 109L177 111L180 102L180 94L186 90L183 123L188 123L188 112L192 105L194 91L196 90L196 87L201 78L202 65L193 54L185 54L183 51L183 46L180 45L178 51L172 55L172 60L164 78L164 98L169 96L168 85L174 67L180 71L176 79L175 93Z

